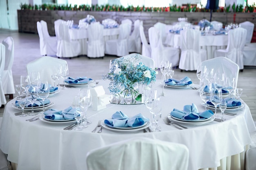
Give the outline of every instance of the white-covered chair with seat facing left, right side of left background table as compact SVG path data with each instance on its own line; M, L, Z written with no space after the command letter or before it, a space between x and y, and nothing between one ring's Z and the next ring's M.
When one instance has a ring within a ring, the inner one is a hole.
M130 32L129 24L120 24L118 39L106 41L105 54L117 55L119 57L128 55L128 37Z

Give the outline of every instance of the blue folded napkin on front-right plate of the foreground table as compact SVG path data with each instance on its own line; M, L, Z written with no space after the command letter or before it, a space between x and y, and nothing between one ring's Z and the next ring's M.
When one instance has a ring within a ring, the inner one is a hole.
M213 111L206 110L199 113L196 105L192 103L192 105L185 105L183 111L174 108L170 114L175 118L183 120L203 120L211 118L211 116L213 116Z

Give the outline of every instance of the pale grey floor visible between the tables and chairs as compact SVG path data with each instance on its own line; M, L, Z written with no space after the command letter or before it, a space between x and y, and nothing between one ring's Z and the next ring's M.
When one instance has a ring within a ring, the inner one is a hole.
M26 64L42 57L40 56L39 37L36 34L0 31L0 42L8 36L14 39L15 51L12 71L14 84L17 85L20 84L20 75L27 74ZM94 79L101 79L101 76L108 72L110 59L115 58L117 57L105 56L103 59L89 59L88 57L80 56L65 60L69 66L70 76L83 75ZM199 83L195 71L180 72L179 69L174 70L176 78L189 76L193 83ZM157 78L161 78L160 71ZM238 87L244 89L241 98L249 106L253 119L256 121L256 67L245 67L244 71L239 73ZM0 109L0 117L2 117L3 111L4 109Z

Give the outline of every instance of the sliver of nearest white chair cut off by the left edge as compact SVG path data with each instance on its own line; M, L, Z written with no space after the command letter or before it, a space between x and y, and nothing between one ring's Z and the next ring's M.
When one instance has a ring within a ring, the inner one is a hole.
M0 105L6 104L6 98L4 95L4 90L2 86L2 73L4 71L4 63L5 63L5 46L0 43Z

